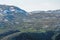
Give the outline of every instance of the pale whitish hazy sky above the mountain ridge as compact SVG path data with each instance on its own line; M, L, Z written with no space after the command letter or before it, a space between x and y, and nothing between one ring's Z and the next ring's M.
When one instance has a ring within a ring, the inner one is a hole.
M14 5L28 12L60 9L60 0L0 0L0 4Z

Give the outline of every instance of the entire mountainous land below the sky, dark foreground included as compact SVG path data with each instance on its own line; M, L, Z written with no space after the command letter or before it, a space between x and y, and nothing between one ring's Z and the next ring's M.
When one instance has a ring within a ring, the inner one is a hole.
M26 12L16 6L0 5L2 40L51 40L52 36L55 39L59 33L60 10Z

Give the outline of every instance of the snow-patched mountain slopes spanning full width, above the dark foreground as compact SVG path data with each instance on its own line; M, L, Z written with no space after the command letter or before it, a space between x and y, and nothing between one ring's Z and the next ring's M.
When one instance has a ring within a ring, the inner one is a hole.
M59 30L60 10L26 12L16 6L0 5L0 30Z

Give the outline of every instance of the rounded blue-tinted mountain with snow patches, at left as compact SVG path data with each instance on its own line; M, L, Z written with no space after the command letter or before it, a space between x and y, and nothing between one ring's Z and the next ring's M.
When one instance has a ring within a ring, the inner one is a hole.
M16 6L0 5L0 28L12 29L20 25L27 14L25 10Z

